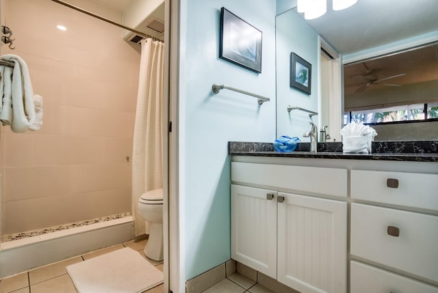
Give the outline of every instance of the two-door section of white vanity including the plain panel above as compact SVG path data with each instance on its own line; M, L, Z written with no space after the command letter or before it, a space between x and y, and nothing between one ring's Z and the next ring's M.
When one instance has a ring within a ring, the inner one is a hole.
M233 162L231 180L233 259L300 292L346 292L346 169Z

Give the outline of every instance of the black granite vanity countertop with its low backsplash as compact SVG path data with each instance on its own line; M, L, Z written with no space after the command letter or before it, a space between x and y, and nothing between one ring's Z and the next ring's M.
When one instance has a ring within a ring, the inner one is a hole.
M298 143L292 153L275 151L271 142L229 142L229 155L438 162L438 140L372 142L370 154L342 153L342 142L318 142L317 153L310 153L309 149L309 142Z

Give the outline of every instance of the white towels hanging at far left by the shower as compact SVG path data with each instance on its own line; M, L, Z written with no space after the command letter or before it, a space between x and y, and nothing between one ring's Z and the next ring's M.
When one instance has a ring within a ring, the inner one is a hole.
M42 97L34 97L27 64L17 55L7 54L1 59L14 62L12 82L10 82L9 66L2 66L0 87L3 88L3 107L0 120L3 125L10 125L14 132L27 129L38 130L42 125ZM11 94L9 95L9 92ZM10 100L12 99L12 103ZM34 99L37 104L34 103Z

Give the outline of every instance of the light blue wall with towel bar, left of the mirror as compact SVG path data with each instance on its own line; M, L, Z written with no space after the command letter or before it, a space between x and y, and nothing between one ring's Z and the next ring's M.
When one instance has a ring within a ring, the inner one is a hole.
M218 57L222 6L263 32L260 74ZM228 142L275 139L275 15L272 0L181 1L179 196L186 280L231 257ZM229 90L214 94L215 83L271 101L258 105Z

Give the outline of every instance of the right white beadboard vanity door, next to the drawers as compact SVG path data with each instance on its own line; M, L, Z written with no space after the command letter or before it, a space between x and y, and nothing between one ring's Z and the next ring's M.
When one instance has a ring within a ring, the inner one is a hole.
M278 201L277 279L302 293L346 292L347 203L283 192Z

